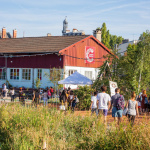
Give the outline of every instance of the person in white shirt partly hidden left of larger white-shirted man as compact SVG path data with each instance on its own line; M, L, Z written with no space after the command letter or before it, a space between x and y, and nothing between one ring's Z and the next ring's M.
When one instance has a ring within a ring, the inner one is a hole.
M95 112L96 115L98 115L97 112L97 92L94 92L94 96L91 97L91 115Z

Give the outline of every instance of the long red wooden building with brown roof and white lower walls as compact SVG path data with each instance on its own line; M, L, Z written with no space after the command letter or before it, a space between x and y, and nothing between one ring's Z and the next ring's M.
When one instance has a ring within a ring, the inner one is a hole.
M0 39L0 81L13 86L52 86L45 73L62 68L67 77L74 71L95 80L104 55L112 54L94 36L48 36Z

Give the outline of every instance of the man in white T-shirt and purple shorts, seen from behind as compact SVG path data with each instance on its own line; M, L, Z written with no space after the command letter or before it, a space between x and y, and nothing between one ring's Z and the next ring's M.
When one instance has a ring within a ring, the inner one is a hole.
M104 115L104 121L106 122L108 107L110 107L111 98L110 98L109 94L106 93L106 91L107 91L106 86L103 85L101 87L101 91L102 92L97 95L98 113Z

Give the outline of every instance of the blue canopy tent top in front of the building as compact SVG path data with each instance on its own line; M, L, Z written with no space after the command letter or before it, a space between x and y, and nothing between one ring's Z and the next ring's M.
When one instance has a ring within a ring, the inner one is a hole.
M91 85L93 82L76 71L66 79L58 81L58 84Z

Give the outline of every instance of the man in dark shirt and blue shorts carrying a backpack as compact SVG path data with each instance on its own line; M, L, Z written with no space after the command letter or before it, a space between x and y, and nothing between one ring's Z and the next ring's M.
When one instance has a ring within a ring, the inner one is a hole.
M118 101L119 100L124 103L124 97L123 97L123 95L119 94L120 93L120 89L119 88L115 89L115 93L116 94L111 97L110 109L113 107L113 109L112 109L112 117L114 118L115 121L118 118L118 125L119 125L121 123L121 121L122 121L122 113L123 113L123 109L124 108L118 109L117 106L118 106Z

